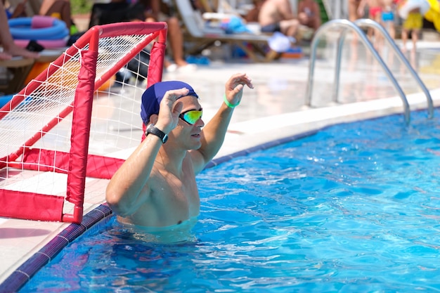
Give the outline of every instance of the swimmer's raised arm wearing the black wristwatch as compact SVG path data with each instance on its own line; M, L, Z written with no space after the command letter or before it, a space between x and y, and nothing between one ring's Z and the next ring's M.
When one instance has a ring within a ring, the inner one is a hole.
M188 89L165 93L160 102L159 115L151 116L151 122L155 123L157 129L169 134L176 127L182 104L176 103L174 108L173 105L178 97L187 93ZM151 193L148 179L161 145L162 140L159 137L148 135L112 176L105 192L105 200L116 214L133 214L148 199Z

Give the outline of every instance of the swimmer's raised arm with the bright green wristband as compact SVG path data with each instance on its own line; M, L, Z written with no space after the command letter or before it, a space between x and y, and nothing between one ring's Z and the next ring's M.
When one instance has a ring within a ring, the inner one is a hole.
M221 103L220 109L202 129L202 146L191 151L195 174L200 173L206 164L219 152L224 142L226 131L233 114L233 105L238 105L242 98L244 86L250 89L254 86L246 74L234 74L225 85L226 102Z

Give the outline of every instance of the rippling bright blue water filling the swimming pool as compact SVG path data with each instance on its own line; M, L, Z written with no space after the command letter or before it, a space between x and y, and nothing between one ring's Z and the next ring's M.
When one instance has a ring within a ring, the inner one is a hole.
M440 291L440 126L425 112L331 126L198 176L194 240L111 216L20 292Z

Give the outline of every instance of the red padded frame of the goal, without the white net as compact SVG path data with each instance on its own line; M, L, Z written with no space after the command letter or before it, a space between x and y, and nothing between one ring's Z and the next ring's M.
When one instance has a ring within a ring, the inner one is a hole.
M134 45L123 58L108 67L108 70L105 70L101 76L97 76L96 65L100 58L100 50L105 50L106 46L105 43L101 44L100 40L132 35L142 35L145 38ZM0 172L6 172L6 169L17 169L19 171L36 170L67 174L67 193L64 196L46 195L22 190L8 190L0 186L0 216L72 223L82 221L86 177L111 178L120 164L124 162L123 159L115 157L89 155L93 94L150 43L153 44L153 47L150 50L146 86L160 82L166 39L167 24L165 22L122 22L92 27L0 109L0 122L2 119L8 119L8 115L12 115L14 112L23 111L22 105L27 103L32 93L39 91L41 86L46 86L45 91L48 91L46 80L57 74L58 70L63 69L63 66L69 63L71 56L80 52L77 85L75 95L72 94L70 105L65 105L65 108L60 109L58 115L54 115L39 131L27 136L20 143L20 147L13 152L1 151L0 145ZM32 100L30 103L33 103ZM69 151L34 148L37 141L71 113L72 131ZM22 131L25 131L26 125L20 126L22 126ZM0 131L6 130L1 129ZM141 141L141 137L139 141ZM9 176L2 177L6 181ZM0 179L0 183L1 181ZM75 205L71 214L63 213L65 201Z

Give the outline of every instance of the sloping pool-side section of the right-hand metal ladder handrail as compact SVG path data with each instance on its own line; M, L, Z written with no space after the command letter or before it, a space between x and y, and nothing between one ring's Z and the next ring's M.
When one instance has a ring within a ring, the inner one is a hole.
M375 22L374 20L370 20L368 18L362 18L362 19L356 20L354 23L360 27L363 27L363 26L373 27L382 33L382 35L385 37L385 39L387 39L388 44L394 49L394 52L396 53L397 57L401 60L403 65L405 65L406 68L408 68L408 71L411 73L411 75L413 75L415 81L419 84L420 88L422 88L422 91L425 93L425 96L427 98L427 103L428 103L428 117L429 118L434 117L434 105L432 103L431 93L429 93L429 90L427 89L425 84L422 82L422 79L420 79L417 72L415 72L413 66L410 65L410 63L405 58L405 56L403 55L403 53L401 52L399 47L396 45L396 43L394 42L392 37L389 35L387 30L385 30L384 27L382 27L382 25L380 25L379 23Z

